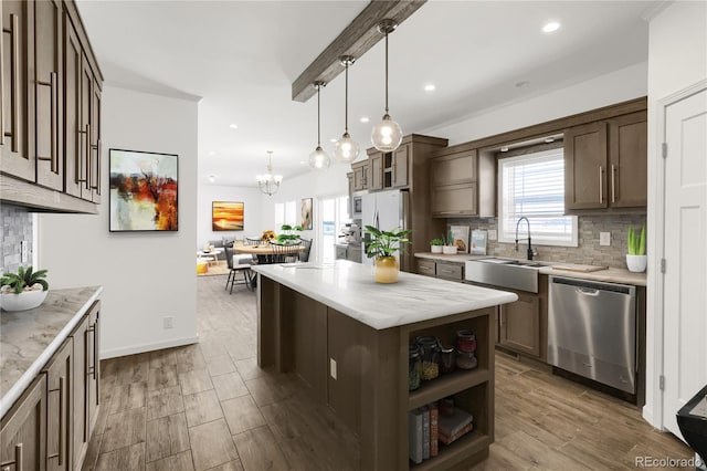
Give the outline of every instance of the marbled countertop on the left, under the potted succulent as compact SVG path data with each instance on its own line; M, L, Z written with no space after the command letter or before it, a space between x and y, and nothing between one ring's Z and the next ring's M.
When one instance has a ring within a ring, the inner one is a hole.
M10 410L103 292L50 290L41 306L0 313L0 417Z

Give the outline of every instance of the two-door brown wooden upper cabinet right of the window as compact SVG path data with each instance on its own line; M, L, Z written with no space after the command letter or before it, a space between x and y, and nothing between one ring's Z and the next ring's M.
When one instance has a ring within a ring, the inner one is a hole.
M564 130L564 208L645 208L646 112Z

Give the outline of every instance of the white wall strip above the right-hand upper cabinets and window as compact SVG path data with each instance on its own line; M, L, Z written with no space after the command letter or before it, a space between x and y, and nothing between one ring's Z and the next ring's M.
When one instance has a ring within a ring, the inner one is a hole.
M455 124L415 133L446 137L451 146L493 136L645 96L646 74L647 63L642 62L523 102L482 109Z

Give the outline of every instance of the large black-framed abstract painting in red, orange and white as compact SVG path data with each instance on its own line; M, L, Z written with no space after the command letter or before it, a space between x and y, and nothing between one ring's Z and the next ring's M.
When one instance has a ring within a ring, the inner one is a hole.
M110 232L178 230L177 156L110 149Z

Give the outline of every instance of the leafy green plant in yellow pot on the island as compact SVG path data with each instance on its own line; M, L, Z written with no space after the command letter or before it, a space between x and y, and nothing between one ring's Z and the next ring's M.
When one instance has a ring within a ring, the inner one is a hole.
M373 226L366 226L365 232L371 236L366 243L366 255L369 259L376 258L376 281L378 283L397 283L400 263L395 253L400 252L404 244L410 243L407 236L411 231L398 228L381 231Z

